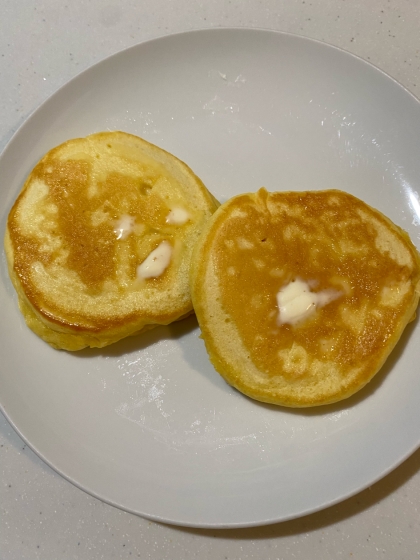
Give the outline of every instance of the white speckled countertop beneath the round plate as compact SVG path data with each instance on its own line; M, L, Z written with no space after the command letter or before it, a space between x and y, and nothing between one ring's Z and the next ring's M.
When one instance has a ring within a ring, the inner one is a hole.
M0 0L0 14L0 150L81 70L125 47L191 29L259 27L316 38L420 94L417 0ZM0 476L0 560L420 557L420 450L327 510L225 531L168 527L92 498L47 467L2 415Z

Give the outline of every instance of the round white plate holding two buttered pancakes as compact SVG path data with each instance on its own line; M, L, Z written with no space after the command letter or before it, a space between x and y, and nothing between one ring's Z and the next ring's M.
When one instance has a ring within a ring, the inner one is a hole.
M338 49L218 29L97 64L44 103L5 150L2 228L45 151L104 129L173 152L221 200L262 185L338 187L419 244L419 103ZM418 322L357 396L293 411L228 387L194 318L102 351L56 352L26 328L4 255L0 289L2 411L49 465L127 511L198 527L286 520L371 485L420 444Z

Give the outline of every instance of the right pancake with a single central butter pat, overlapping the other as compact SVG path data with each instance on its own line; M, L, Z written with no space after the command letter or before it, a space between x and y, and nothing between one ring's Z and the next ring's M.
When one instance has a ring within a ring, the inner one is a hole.
M350 194L261 189L215 212L190 281L210 360L230 385L267 403L318 406L379 371L415 317L420 255Z

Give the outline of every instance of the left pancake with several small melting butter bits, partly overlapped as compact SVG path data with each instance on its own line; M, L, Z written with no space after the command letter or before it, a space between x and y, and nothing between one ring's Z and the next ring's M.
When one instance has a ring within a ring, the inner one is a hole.
M136 136L101 132L52 149L5 234L28 326L79 350L189 315L191 252L217 206L187 165Z

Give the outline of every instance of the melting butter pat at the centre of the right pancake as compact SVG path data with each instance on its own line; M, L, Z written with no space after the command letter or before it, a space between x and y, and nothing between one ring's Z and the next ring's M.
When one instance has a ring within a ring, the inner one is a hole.
M324 307L340 295L341 292L333 289L312 292L307 282L294 280L277 293L278 324L295 325L309 318L317 308Z

